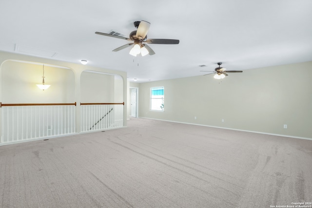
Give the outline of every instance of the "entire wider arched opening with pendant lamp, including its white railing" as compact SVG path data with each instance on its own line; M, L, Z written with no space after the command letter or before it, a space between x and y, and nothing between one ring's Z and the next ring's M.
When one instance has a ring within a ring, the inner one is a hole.
M71 69L6 60L0 70L0 144L76 133L75 74ZM45 90L37 86L43 77L50 85Z

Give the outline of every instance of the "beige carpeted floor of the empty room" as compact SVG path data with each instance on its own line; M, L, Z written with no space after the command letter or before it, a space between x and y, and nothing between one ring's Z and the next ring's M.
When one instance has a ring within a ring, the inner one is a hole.
M0 146L1 208L271 208L312 202L312 141L142 118Z

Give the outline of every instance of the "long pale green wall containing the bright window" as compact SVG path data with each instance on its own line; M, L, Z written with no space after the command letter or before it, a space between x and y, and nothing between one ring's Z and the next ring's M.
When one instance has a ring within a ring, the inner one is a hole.
M139 116L312 138L311 78L312 62L304 62L229 73L222 82L208 75L141 83ZM164 112L149 110L157 86Z

